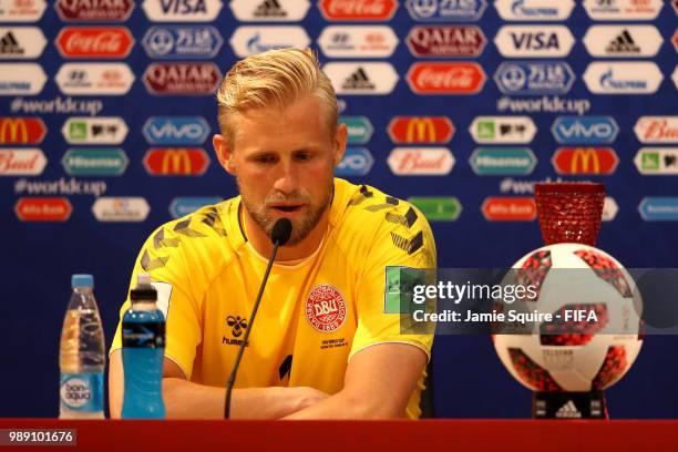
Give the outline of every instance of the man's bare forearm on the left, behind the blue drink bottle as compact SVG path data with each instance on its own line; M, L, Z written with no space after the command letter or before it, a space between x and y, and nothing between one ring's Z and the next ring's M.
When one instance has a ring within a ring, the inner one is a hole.
M111 353L109 367L109 404L112 419L120 419L123 394L122 350L117 349ZM164 359L163 400L167 419L224 419L225 396L224 388L187 381L176 362ZM327 397L312 388L234 389L230 418L279 419Z

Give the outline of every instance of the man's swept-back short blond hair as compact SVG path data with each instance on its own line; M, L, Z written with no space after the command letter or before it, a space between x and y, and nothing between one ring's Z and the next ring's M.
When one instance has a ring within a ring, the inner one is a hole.
M320 101L333 136L337 95L312 50L275 49L238 61L216 92L219 127L227 145L233 148L235 143L233 120L238 114L270 106L284 110L309 94Z

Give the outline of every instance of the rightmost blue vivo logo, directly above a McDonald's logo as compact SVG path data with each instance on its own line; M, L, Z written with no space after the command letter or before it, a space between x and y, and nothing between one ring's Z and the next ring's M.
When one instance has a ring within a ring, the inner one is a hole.
M559 116L551 132L563 144L606 144L615 141L619 126L612 116Z

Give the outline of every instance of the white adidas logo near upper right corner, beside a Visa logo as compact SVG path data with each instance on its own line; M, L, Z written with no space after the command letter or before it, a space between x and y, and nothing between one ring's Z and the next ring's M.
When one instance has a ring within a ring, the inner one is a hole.
M593 56L655 56L664 42L653 25L594 25L584 37Z

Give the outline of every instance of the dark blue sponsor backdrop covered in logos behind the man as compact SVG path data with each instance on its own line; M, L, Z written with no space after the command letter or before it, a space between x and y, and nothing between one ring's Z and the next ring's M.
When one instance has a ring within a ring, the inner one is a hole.
M533 184L548 179L604 182L599 247L678 267L676 9L0 0L0 415L56 413L72 273L94 274L110 343L146 236L236 194L210 146L213 92L270 48L318 51L350 131L338 174L419 206L441 267L510 266L538 247ZM614 417L678 415L676 345L646 339L608 391ZM487 337L438 338L433 368L439 415L530 415Z

